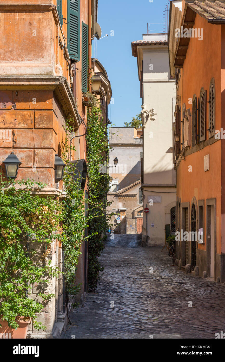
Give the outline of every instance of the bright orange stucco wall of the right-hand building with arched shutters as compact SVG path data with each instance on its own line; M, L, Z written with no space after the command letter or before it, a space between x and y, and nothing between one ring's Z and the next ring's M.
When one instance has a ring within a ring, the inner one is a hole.
M208 24L207 20L196 14L194 28L203 30L203 40L191 38L187 50L186 59L181 69L178 96L181 96L181 107L185 103L186 109L192 113L192 105L189 99L196 94L200 96L200 89L207 90L209 99L209 85L212 78L215 80L216 124L215 130L221 126L221 84L224 88L224 80L221 83L221 34L224 39L224 30L221 25ZM213 61L212 61L213 59ZM185 85L185 86L184 86ZM208 139L209 109L207 103L206 139ZM190 121L189 121L190 122ZM191 127L191 125L189 125ZM190 132L189 132L190 134ZM209 154L209 171L204 171L204 156ZM217 253L221 253L221 140L204 147L202 150L186 156L181 160L177 168L177 196L181 202L190 202L195 196L196 200L216 198L217 216ZM189 166L192 172L189 172ZM224 169L222 168L222 172ZM191 210L190 210L191 212ZM206 209L204 212L204 239L205 244L199 244L199 249L206 249ZM190 215L189 215L190 218ZM225 248L222 250L225 252Z

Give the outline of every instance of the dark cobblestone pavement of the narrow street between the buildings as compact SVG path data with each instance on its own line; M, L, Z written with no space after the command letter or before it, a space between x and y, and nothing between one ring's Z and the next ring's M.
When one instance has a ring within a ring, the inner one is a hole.
M73 325L61 338L215 338L225 332L224 283L184 274L165 249L112 245L101 254L105 270L95 294L71 313Z

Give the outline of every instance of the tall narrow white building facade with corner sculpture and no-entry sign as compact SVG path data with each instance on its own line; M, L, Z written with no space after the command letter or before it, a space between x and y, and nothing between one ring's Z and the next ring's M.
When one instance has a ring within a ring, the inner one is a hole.
M131 43L137 57L142 98L142 245L165 243L165 229L176 231L176 172L173 167L175 79L170 76L167 34L143 34ZM167 227L166 227L167 226Z

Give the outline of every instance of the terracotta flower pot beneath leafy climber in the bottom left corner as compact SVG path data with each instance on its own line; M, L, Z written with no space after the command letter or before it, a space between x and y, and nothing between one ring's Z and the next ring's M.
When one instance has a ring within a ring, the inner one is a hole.
M19 327L13 329L8 326L8 322L0 319L0 338L14 338L14 339L26 339L28 324L31 323L31 320L23 320L23 317L18 318L17 320Z

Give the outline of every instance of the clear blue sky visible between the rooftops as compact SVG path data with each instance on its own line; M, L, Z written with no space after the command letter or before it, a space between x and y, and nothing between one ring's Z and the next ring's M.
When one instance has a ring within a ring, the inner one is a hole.
M163 12L168 0L99 0L98 23L102 37L92 42L92 56L99 59L111 81L114 104L109 105L109 119L122 127L141 111L137 58L131 42L142 34L163 32ZM167 19L167 13L166 13ZM161 24L153 24L161 23ZM111 30L114 36L111 36ZM156 31L153 31L156 30Z

